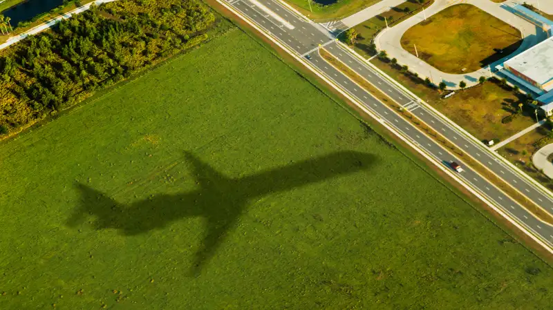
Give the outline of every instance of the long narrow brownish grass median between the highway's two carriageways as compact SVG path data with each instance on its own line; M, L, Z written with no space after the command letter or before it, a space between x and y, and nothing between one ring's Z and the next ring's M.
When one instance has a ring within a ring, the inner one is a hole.
M553 216L550 215L547 211L541 209L540 206L537 206L534 204L534 202L528 200L522 193L519 193L516 191L516 189L512 188L509 184L505 183L505 181L501 180L499 177L495 175L495 173L492 173L489 171L485 166L480 164L480 162L477 162L475 159L467 155L465 152L463 152L460 148L449 142L446 137L442 136L441 134L435 132L432 128L424 124L424 122L420 121L418 117L411 113L407 113L402 106L397 104L391 97L388 97L382 91L380 91L378 88L373 86L373 84L369 83L366 79L364 79L362 76L358 75L357 72L351 70L346 64L342 63L338 59L336 59L334 56L330 54L330 52L324 50L324 48L321 48L319 50L319 53L321 54L321 57L323 57L326 61L328 61L329 64L332 66L335 66L337 70L340 70L343 72L347 77L355 81L359 86L362 86L367 90L369 93L371 93L373 96L375 96L380 101L384 102L384 104L387 104L391 108L393 108L397 114L404 117L404 119L407 119L411 124L414 124L421 130L423 130L425 133L433 137L433 139L440 143L444 148L446 148L451 153L454 153L455 155L459 156L460 159L462 159L464 162L469 164L471 168L474 168L475 171L480 173L480 175L484 176L489 180L492 184L500 188L502 191L507 193L507 195L511 196L514 200L516 200L519 204L525 206L526 209L528 209L530 212L532 212L536 217L538 217L540 220L543 220L544 222L553 224Z

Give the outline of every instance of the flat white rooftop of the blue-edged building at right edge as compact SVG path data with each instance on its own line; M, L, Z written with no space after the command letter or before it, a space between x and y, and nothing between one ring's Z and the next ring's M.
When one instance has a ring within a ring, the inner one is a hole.
M553 37L505 61L505 65L538 84L547 83L553 79Z

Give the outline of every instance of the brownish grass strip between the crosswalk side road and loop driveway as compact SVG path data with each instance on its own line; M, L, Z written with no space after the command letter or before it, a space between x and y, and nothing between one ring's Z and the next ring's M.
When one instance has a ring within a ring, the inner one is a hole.
M422 5L415 1L405 1L399 6L395 6L382 14L378 14L363 23L359 23L359 25L354 27L358 36L353 48L364 57L372 56L374 52L370 46L373 42L373 38L380 30L386 28L386 22L388 22L388 27L392 27L405 19L408 15L416 14L421 10L422 6L429 6L431 3L433 3L433 0L424 0Z

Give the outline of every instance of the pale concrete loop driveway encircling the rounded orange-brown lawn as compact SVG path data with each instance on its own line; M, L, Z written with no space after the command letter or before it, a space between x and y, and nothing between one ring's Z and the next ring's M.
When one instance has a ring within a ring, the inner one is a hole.
M425 16L427 18L431 17L433 14L436 14L449 6L460 3L468 3L476 6L477 8L480 8L480 10L483 10L488 14L501 19L502 21L505 21L505 23L509 23L509 25L512 25L513 27L523 32L525 39L518 50L513 52L511 55L505 57L504 59L491 64L492 70L497 64L503 63L503 61L512 58L515 55L518 55L524 50L527 50L528 48L547 38L545 32L543 32L543 30L541 30L540 28L534 26L533 23L530 23L529 21L516 16L512 12L505 10L505 8L502 8L503 5L512 6L514 0L505 1L503 3L494 3L490 0L435 0L431 6L424 10L424 12L419 12L413 17L402 21L392 28L382 30L382 32L380 32L379 35L377 35L377 37L375 38L377 49L386 50L386 52L388 53L388 57L396 58L398 63L409 66L410 70L417 72L419 76L423 79L425 77L429 77L434 84L438 84L440 83L440 81L444 81L450 89L458 88L460 81L465 81L467 83L467 86L474 86L478 84L478 79L482 75L486 77L490 75L488 68L482 68L478 71L467 72L464 74L451 74L442 72L437 68L434 68L433 66L427 64L425 61L418 59L410 52L404 50L400 43L403 34L409 28L415 26L417 23L424 21Z

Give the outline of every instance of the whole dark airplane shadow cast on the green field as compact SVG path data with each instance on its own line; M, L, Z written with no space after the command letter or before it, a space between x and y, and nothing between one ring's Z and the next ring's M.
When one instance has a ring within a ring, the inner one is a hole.
M375 155L342 151L231 179L191 153L185 153L185 157L194 170L200 186L198 190L176 195L159 194L124 205L94 188L77 183L75 186L81 193L81 201L66 224L77 227L92 216L95 229L117 229L122 235L138 235L162 229L185 217L204 217L206 233L191 266L191 274L199 275L250 200L338 175L366 171L377 161Z

